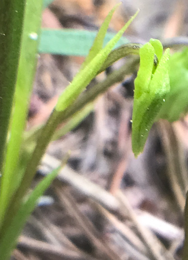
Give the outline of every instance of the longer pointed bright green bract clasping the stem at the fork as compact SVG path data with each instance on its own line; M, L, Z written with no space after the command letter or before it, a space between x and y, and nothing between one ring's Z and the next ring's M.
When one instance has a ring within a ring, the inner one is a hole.
M103 65L108 54L112 51L116 43L120 40L126 28L136 17L138 12L132 16L125 26L116 34L116 36L101 50L92 61L80 70L74 77L70 85L63 91L56 105L57 111L63 111L79 96L90 81L96 76L98 70Z

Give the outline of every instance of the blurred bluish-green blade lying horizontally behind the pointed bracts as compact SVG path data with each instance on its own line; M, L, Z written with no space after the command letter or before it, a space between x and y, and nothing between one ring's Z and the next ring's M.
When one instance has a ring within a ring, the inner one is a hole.
M96 35L96 31L42 28L38 52L69 56L87 56ZM115 33L107 32L104 45L114 36ZM126 43L128 43L128 40L124 36L118 41L116 47L120 47Z

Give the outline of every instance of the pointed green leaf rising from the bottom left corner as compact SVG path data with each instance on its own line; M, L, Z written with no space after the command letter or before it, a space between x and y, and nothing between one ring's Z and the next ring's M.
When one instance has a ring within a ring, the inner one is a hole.
M34 189L29 198L19 208L17 214L12 219L5 233L0 238L0 258L9 260L10 254L16 245L16 240L23 229L28 216L31 214L37 204L37 200L43 195L50 186L54 178L60 171L61 166L47 175Z

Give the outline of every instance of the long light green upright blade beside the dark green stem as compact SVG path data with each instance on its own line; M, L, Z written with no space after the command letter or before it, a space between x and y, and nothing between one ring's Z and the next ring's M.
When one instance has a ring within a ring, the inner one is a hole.
M19 60L14 107L10 123L5 163L0 187L0 222L21 176L16 170L20 155L22 134L26 124L30 94L37 61L38 35L40 33L42 0L27 0Z

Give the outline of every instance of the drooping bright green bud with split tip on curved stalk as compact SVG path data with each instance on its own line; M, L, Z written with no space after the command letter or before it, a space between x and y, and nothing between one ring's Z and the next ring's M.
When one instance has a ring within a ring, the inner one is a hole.
M163 103L165 102L167 94L170 91L170 50L167 49L165 51L154 74L152 74L149 52L153 58L154 48L152 47L152 50L150 43L147 43L145 46L146 47L143 46L143 49L146 48L145 52L143 52L142 48L142 50L140 49L140 68L138 71L138 78L136 78L134 82L134 93L136 95L134 95L132 114L132 151L135 156L138 156L138 154L143 151L149 131L155 122ZM146 61L142 62L145 58L144 53L147 53L148 55L148 64ZM145 71L147 71L147 74L144 74L144 68ZM148 80L149 78L150 81Z

